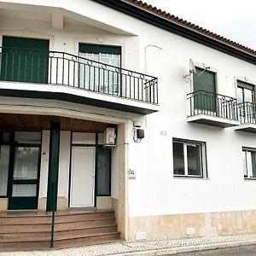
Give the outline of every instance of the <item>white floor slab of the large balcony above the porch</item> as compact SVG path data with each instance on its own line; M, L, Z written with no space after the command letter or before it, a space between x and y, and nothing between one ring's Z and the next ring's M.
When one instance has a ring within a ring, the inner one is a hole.
M159 108L148 102L55 84L0 81L0 96L52 99L139 114L154 113Z

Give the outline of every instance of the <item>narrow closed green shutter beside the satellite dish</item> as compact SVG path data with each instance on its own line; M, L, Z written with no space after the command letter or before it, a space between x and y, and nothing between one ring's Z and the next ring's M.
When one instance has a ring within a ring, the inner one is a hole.
M196 67L193 75L195 108L216 111L215 73Z

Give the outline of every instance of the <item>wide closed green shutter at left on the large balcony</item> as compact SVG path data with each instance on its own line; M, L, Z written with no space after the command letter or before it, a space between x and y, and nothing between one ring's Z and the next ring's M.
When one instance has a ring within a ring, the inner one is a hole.
M3 37L1 80L48 83L49 40Z

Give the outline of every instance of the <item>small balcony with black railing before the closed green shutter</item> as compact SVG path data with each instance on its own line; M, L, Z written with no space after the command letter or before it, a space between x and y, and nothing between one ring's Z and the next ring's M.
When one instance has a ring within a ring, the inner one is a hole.
M188 122L221 128L240 125L236 99L197 90L187 95Z

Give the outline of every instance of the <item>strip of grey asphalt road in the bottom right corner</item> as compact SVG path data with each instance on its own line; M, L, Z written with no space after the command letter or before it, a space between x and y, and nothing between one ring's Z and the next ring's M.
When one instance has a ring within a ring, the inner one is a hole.
M230 247L219 250L210 250L195 253L179 253L177 256L256 256L256 245Z

